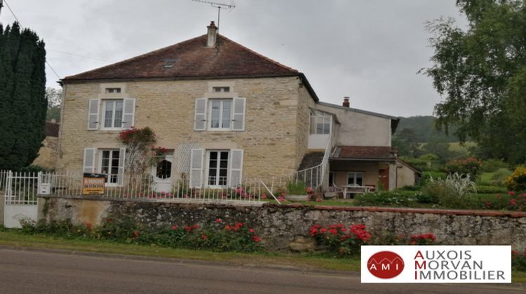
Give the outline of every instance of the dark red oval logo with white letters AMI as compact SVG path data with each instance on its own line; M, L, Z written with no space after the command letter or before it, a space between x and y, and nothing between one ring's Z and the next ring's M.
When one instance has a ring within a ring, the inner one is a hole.
M367 260L367 269L380 279L392 279L403 271L404 261L394 252L380 251Z

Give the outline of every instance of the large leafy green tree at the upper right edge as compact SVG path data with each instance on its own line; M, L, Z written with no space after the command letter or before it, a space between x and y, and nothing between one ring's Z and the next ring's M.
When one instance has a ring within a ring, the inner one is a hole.
M510 162L526 160L526 8L518 0L458 0L468 26L429 23L433 65L424 73L443 97L435 106L438 127L479 153Z

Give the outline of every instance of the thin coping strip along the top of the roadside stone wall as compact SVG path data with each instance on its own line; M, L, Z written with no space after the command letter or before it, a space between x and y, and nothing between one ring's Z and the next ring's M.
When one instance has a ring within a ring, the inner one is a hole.
M133 199L133 198L101 198L97 196L55 196L39 195L41 198L63 198L76 200L98 200L98 201L119 201L119 202L149 202L159 204L193 204L203 205L203 207L271 207L275 209L311 209L311 210L332 210L332 211L368 211L368 212L395 212L403 214L449 214L457 216L506 216L509 218L526 218L526 212L520 211L496 211L496 210L469 210L469 209L419 209L401 207L338 207L328 205L304 205L294 204L271 204L264 202L224 202L206 201L194 202L191 200L156 200L156 199Z

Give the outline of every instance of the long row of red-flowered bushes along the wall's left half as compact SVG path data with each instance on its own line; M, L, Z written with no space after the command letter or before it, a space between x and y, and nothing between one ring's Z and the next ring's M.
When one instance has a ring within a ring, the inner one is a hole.
M99 227L93 225L72 225L69 221L60 223L25 222L22 232L27 234L48 234L68 238L107 239L121 243L174 248L202 248L211 251L252 252L262 248L262 239L246 223L227 224L217 218L204 226L170 225L153 230L137 225L131 218L106 218Z

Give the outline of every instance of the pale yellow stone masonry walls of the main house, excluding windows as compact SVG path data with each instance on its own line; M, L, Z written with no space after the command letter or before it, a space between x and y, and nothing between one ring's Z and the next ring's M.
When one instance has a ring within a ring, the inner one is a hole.
M210 83L233 85L233 92L246 98L244 131L194 130L196 99L206 97ZM306 152L306 105L313 103L299 83L297 76L66 83L58 169L80 171L84 148L119 148L119 131L88 130L90 99L133 98L134 125L154 130L157 146L175 151L180 144L189 143L205 149L243 149L243 178L294 172ZM121 87L121 92L106 94L106 87ZM95 172L100 170L95 168Z

